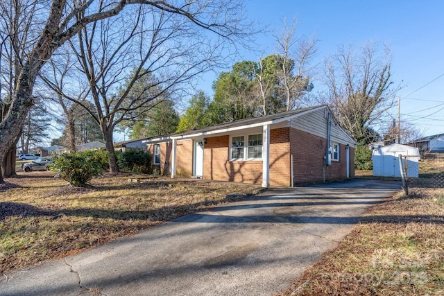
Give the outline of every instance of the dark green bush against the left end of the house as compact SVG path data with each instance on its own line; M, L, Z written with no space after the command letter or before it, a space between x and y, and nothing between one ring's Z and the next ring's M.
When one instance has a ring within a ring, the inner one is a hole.
M117 165L121 170L131 173L151 173L151 155L146 150L129 149L117 153Z

